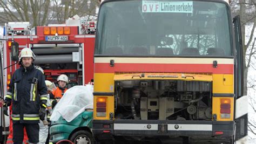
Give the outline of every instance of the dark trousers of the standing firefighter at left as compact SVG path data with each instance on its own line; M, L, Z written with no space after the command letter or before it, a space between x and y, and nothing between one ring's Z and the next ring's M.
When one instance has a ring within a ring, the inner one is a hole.
M39 142L39 125L38 124L13 124L14 128L14 144L22 144L24 127L26 128L26 134L28 134L30 143Z

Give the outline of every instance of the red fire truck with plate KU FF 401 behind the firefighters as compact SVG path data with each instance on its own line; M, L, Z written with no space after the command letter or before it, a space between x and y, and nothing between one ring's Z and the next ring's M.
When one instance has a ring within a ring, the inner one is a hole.
M66 74L70 81L69 87L85 85L93 79L95 43L95 35L87 34L92 32L86 24L83 19L68 19L66 24L31 29L29 22L9 22L5 25L4 37L15 40L19 50L29 47L36 54L35 65L44 69L46 80L56 82L60 74ZM14 64L10 60L10 46L11 42L4 43L4 67ZM12 73L18 67L14 65L4 71L6 84L10 83Z

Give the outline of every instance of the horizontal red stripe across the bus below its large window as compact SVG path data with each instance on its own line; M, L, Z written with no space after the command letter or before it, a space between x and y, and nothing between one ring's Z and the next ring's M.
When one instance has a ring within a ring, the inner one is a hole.
M212 64L120 64L113 67L109 63L95 63L95 73L114 72L177 72L177 73L214 73L233 74L233 64L218 64L216 68Z

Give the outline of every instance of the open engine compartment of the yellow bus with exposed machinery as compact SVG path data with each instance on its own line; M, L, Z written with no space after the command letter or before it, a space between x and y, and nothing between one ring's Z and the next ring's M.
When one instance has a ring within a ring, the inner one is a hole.
M212 120L210 81L123 80L114 91L114 119Z

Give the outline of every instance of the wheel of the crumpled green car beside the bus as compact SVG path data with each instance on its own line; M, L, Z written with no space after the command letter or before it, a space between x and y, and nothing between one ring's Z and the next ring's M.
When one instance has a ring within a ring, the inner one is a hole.
M94 144L95 140L92 137L92 134L87 131L77 131L73 133L70 137L70 141L74 144L87 143Z

